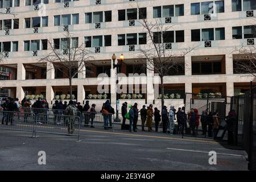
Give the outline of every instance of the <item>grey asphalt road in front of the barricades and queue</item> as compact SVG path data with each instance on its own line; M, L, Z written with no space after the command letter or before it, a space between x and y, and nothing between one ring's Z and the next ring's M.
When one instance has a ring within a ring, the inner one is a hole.
M210 139L82 129L77 137L0 130L0 170L246 170L246 152ZM46 165L38 152L46 152ZM217 152L210 165L209 151Z

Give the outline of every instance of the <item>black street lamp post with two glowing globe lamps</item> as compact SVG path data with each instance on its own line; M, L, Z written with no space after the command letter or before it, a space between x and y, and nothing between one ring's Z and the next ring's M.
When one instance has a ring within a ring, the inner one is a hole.
M122 61L125 59L123 57L123 54L121 54L120 56L120 63L118 63L118 59L117 59L117 64L115 64L115 60L117 59L117 56L115 56L115 54L113 54L112 56L112 60L113 60L113 69L117 68L117 76L116 76L116 85L117 85L117 89L115 90L115 99L116 99L116 102L115 102L115 113L116 113L116 117L115 117L115 121L118 122L119 120L119 117L118 117L118 105L119 105L119 100L118 100L118 74L121 72L121 67L122 67Z

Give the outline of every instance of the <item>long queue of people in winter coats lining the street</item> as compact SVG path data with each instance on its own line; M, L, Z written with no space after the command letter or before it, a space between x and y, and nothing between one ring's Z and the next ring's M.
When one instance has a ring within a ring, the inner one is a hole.
M129 111L127 108L129 107ZM47 123L47 109L49 109L49 104L46 100L39 98L31 104L31 101L23 98L22 101L19 101L18 98L3 98L0 101L0 110L6 111L2 114L2 125L13 125L14 114L18 115L20 113L24 114L24 122L27 122L27 118L31 110L35 115L43 115L42 121ZM53 122L56 125L61 124L62 115L70 116L82 116L84 120L84 126L93 126L94 118L96 117L96 105L89 105L89 101L85 102L84 107L80 102L75 101L63 101L56 100L52 105L53 112ZM112 128L112 116L115 113L115 110L110 105L110 101L107 100L101 107L100 113L103 115L104 119L104 129L108 130ZM83 115L81 115L83 114ZM226 118L220 118L218 111L212 113L208 110L203 110L202 113L199 113L197 109L191 109L188 113L185 113L185 107L179 107L178 110L174 106L170 106L170 109L167 109L167 106L163 106L162 110L159 110L157 107L154 107L150 104L149 106L143 105L141 109L138 108L138 104L127 105L127 102L124 102L121 107L122 115L122 130L129 130L130 132L137 132L137 123L139 115L141 117L141 131L152 132L152 124L154 121L155 131L159 131L159 126L162 126L163 133L173 134L191 134L193 137L199 135L199 125L201 123L201 135L207 135L208 137L217 138L218 130L220 129L221 121L225 119L226 129L228 130L229 143L234 142L233 133L235 130L236 117L234 110L231 110ZM82 120L81 119L81 120ZM129 119L129 125L126 125L126 121ZM40 121L40 119L39 119ZM176 121L176 122L175 122ZM69 128L69 133L73 133L73 126L75 121L72 117L64 117L64 122ZM39 124L43 124L39 122Z

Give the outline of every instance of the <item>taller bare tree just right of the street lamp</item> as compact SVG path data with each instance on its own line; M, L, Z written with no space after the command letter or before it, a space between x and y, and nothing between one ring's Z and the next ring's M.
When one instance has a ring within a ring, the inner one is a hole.
M137 1L137 10L139 11L139 4ZM177 71L179 67L185 69L185 61L183 62L181 57L187 55L196 47L189 47L180 51L180 53L175 54L172 52L172 44L167 43L170 35L168 31L172 30L173 24L166 24L161 21L161 19L155 19L153 22L148 20L143 11L139 11L139 16L141 17L141 24L143 26L144 32L147 33L147 45L140 46L139 52L141 52L139 57L144 57L147 59L146 68L154 73L158 73L160 77L160 87L161 87L161 105L164 106L164 84L163 77L170 75L170 71ZM167 40L167 41L166 41ZM171 74L172 75L172 74ZM175 75L175 74L174 74Z

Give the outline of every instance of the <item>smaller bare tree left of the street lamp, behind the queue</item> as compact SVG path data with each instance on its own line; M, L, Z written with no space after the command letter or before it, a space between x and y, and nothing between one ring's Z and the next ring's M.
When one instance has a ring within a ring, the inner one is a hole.
M52 44L48 40L50 49L46 56L40 58L39 62L53 65L53 67L47 68L47 72L55 69L69 79L69 92L72 100L72 79L79 73L85 74L85 67L90 65L93 56L85 48L84 43L78 43L78 38L73 38L68 31L64 35L65 38L62 39L64 43L61 45Z

